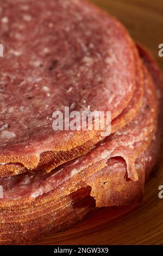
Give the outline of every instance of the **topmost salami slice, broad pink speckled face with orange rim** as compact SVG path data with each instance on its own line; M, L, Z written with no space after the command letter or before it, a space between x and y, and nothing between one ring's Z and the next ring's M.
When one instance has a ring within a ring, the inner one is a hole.
M71 160L78 147L84 154L97 132L53 131L52 114L68 106L111 111L114 120L124 111L136 81L126 29L81 0L2 0L0 15L1 165L34 169L43 154L46 161L67 151Z

